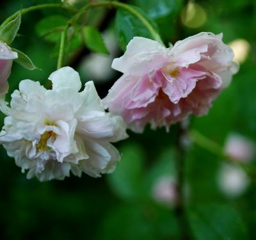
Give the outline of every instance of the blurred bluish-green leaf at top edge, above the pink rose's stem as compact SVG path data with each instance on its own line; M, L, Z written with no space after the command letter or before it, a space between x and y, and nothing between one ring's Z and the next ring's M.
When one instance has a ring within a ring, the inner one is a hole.
M136 0L136 4L152 19L176 16L182 8L182 2L182 0Z

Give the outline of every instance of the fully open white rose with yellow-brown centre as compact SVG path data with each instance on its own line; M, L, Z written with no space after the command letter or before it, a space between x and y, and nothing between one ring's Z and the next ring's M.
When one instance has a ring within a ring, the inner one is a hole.
M104 111L92 81L83 92L79 74L70 67L53 72L52 90L31 80L12 93L0 143L8 156L28 171L28 179L64 179L71 171L92 177L111 173L120 154L109 142L127 138L120 116Z

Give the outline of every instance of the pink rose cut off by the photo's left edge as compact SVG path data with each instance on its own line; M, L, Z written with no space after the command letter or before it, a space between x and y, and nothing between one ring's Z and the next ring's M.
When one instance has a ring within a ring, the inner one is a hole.
M12 61L18 58L17 52L13 52L12 49L0 42L0 94L3 95L8 92L7 79L10 76Z

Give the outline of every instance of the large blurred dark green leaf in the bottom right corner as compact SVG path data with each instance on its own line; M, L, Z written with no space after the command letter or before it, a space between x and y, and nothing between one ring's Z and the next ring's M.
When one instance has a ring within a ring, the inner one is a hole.
M205 204L189 212L195 240L246 240L248 232L230 205Z

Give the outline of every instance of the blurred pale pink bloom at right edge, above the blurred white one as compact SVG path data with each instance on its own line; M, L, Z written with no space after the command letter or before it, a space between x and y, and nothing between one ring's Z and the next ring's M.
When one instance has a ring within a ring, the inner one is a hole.
M255 157L255 143L239 134L230 134L225 143L225 153L237 161L252 161Z

